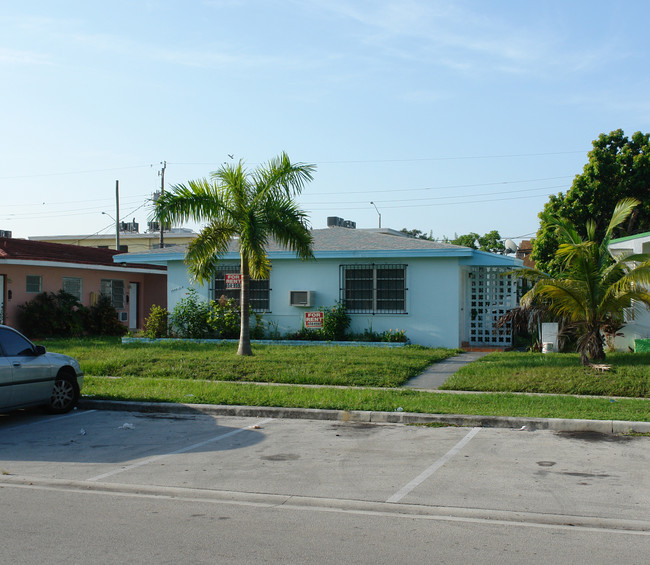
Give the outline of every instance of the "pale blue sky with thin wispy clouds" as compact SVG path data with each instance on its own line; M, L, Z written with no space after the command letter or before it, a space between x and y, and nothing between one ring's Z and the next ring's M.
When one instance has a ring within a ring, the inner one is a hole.
M7 2L0 229L145 227L158 189L281 151L315 228L537 230L600 133L650 131L645 0ZM197 227L197 226L190 226Z

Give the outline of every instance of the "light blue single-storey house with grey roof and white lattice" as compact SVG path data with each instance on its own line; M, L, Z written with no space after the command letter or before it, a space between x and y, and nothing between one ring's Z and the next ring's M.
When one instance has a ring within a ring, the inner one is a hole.
M496 320L517 305L517 281L507 271L522 261L447 243L415 239L391 229L333 226L312 231L315 260L301 261L272 244L269 280L251 281L251 304L281 333L299 330L305 312L344 302L350 330L405 330L412 343L507 347L509 330ZM189 288L206 300L238 296L227 288L239 272L236 242L212 284L190 281L185 248L118 255L120 263L167 265L171 311ZM228 281L229 282L229 281Z

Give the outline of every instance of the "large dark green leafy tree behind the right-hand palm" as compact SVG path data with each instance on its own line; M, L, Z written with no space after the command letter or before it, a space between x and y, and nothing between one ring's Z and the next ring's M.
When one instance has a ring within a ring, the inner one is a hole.
M650 230L650 134L636 132L628 139L622 130L601 134L593 142L589 162L576 175L566 194L551 195L540 213L540 229L533 243L532 258L537 269L558 274L562 261L556 257L560 239L555 224L546 218L565 218L578 226L586 237L587 222L593 220L596 236L604 237L616 203L636 198L641 205L626 222L617 226L612 237L623 237Z

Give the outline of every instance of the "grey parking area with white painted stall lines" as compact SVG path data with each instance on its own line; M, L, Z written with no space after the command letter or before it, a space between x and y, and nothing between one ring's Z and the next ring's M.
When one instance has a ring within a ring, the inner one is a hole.
M30 494L94 492L356 516L355 527L369 516L461 521L505 528L508 543L513 527L579 530L591 536L583 543L636 556L650 550L649 468L649 437L598 432L92 409L0 416L0 500L17 508Z

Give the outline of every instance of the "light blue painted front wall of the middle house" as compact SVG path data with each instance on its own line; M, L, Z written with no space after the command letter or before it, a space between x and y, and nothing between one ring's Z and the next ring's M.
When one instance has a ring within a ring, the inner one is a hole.
M331 307L339 300L339 267L352 264L406 264L406 314L350 314L350 331L361 333L366 329L383 332L389 329L406 330L412 343L434 347L460 347L461 290L458 259L409 258L369 260L319 259L301 262L295 259L276 259L270 277L271 312L264 321L277 324L281 333L297 331L302 327L305 311L321 306ZM224 262L237 265L238 263ZM170 311L195 288L206 300L209 285L190 284L187 266L182 261L170 261L167 266L168 302ZM289 305L290 290L315 292L311 308Z

